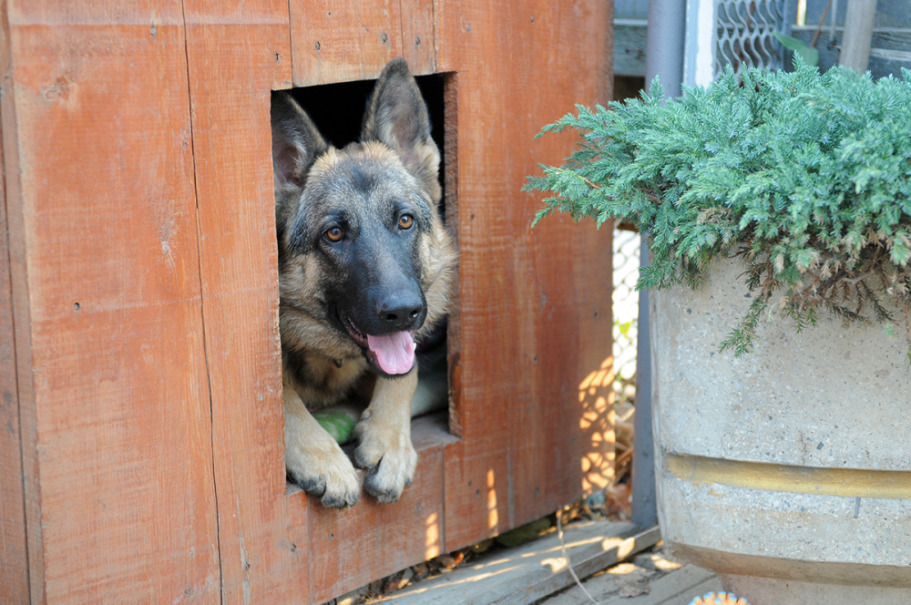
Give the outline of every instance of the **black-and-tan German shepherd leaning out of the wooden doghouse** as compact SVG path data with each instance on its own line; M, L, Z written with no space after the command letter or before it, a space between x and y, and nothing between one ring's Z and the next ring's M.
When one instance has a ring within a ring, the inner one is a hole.
M383 70L360 141L328 144L287 94L271 106L285 467L327 507L360 499L352 461L308 410L363 401L354 464L380 502L411 483L415 341L444 317L456 253L440 154L403 59Z

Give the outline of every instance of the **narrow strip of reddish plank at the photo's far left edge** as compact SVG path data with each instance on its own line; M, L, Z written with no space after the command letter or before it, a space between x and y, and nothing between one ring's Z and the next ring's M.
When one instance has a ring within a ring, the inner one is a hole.
M0 69L4 87L9 73L9 26L5 3L0 3ZM2 103L2 101L0 101ZM10 113L7 113L7 111ZM15 128L12 106L5 104L2 117ZM15 333L13 330L13 292L10 280L9 243L6 227L6 182L4 125L0 119L0 602L28 602L28 550L26 548L26 508L22 483L22 443L19 430L19 394L15 384ZM10 162L12 170L17 169ZM14 177L15 178L15 177Z

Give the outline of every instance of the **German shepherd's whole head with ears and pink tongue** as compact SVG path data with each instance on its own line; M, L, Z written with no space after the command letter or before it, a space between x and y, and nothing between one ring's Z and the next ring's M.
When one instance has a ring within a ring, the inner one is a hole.
M360 142L344 149L288 95L273 97L271 117L282 345L410 372L415 333L445 313L453 264L415 78L402 59L387 65Z

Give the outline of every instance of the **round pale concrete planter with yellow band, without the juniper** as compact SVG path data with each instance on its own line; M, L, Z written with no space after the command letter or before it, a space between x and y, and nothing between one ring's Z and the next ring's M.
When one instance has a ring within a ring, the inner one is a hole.
M698 292L651 293L665 541L752 605L911 603L905 339L824 313L720 354L751 302L743 269L716 261Z

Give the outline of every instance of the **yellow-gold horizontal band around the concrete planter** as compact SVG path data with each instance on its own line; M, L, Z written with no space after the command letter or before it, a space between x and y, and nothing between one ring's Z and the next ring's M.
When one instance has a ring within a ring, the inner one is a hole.
M796 467L667 452L662 459L671 474L695 483L799 494L911 498L911 471L906 470Z

